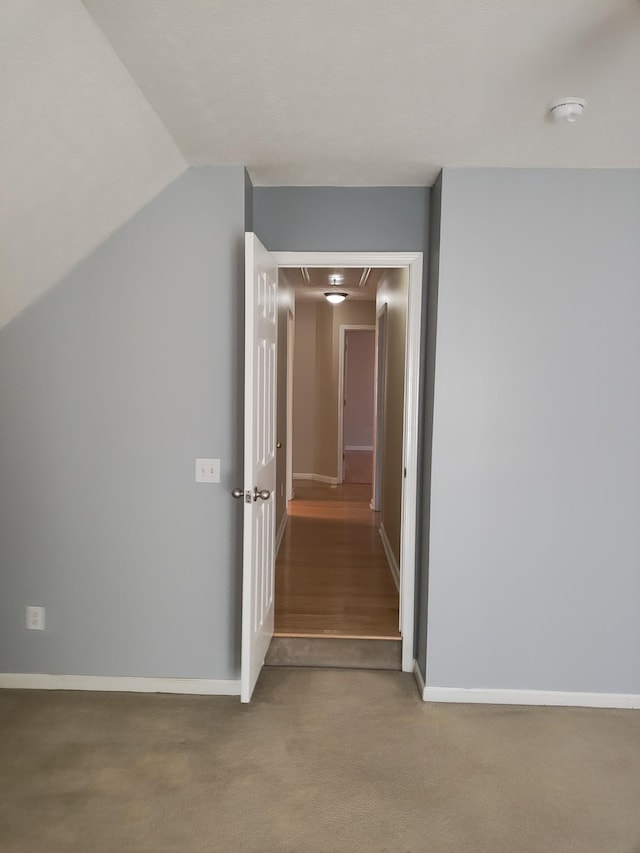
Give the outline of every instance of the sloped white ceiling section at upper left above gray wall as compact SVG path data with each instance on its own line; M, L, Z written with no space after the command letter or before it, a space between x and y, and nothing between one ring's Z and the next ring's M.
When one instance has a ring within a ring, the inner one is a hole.
M80 0L0 8L0 326L186 167Z

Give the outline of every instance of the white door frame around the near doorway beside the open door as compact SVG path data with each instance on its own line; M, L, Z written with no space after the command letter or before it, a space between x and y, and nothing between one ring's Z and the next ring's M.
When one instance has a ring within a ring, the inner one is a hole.
M407 267L409 270L403 441L406 476L402 488L400 535L400 626L402 669L404 672L412 672L417 548L422 252L271 252L271 254L279 267Z

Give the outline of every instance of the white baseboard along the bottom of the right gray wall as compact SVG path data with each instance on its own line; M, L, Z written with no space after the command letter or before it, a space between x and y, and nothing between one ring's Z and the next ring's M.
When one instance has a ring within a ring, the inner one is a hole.
M634 693L572 693L562 690L498 690L477 687L424 687L425 702L488 705L556 705L572 708L640 708Z

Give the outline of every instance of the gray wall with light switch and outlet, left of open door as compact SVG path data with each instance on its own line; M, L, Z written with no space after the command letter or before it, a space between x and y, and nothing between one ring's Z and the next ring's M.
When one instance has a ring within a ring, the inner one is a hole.
M244 197L187 171L0 333L0 672L238 676Z

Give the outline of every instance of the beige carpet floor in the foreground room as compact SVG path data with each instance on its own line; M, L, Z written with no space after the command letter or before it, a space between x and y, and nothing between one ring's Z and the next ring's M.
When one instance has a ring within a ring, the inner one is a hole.
M0 849L640 853L640 713L352 670L267 669L250 706L2 691Z

